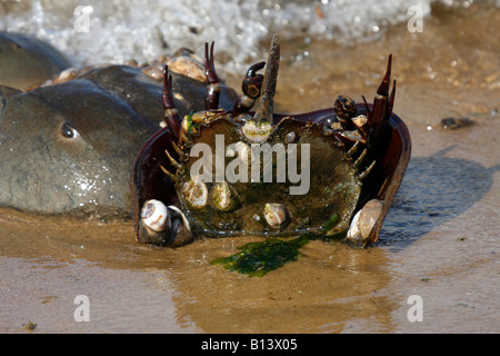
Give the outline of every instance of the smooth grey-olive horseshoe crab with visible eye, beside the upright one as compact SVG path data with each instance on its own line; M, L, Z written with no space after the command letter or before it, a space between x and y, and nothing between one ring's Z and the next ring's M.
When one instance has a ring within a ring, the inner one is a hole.
M0 86L0 206L130 218L136 155L163 120L162 85L147 69L107 65L27 91ZM172 73L171 85L181 115L203 105L206 82ZM221 102L236 97L221 87Z

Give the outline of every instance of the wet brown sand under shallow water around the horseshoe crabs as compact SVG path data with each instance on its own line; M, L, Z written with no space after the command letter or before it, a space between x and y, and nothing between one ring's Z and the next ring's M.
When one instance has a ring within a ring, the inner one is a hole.
M137 244L130 221L2 209L0 332L30 320L33 333L499 333L499 23L489 4L433 4L423 32L401 22L352 47L283 40L277 106L289 112L371 98L393 53L412 158L377 246L311 241L249 278L210 261L250 238L157 248ZM227 80L239 88L240 76ZM447 117L474 125L443 130ZM89 323L73 318L78 295ZM408 318L411 295L422 322Z

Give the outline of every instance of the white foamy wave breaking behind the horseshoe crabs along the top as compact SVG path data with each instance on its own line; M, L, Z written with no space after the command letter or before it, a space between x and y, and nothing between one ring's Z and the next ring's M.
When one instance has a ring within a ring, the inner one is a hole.
M430 13L431 0L417 2L424 16ZM416 0L31 0L0 7L0 30L36 34L77 66L149 61L181 47L201 55L204 42L216 40L217 58L231 71L261 60L266 48L260 43L271 32L347 43L407 21L408 8L414 4ZM82 6L87 8L78 8Z

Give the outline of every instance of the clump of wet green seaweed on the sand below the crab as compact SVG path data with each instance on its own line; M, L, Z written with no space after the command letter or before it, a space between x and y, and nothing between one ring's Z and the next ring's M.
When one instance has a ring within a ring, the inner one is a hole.
M309 243L307 235L286 241L267 238L264 241L249 243L238 247L239 253L212 260L211 265L222 265L226 269L236 270L251 277L262 277L278 269L288 261L296 260L299 248Z

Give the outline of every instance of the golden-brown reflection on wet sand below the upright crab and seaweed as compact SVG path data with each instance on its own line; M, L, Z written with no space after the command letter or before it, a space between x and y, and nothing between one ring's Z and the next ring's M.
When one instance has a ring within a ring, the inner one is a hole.
M233 253L231 239L207 239L182 248L170 276L177 323L207 333L391 332L392 300L379 291L391 283L387 251L340 243L310 241L294 263L264 277L229 273L208 261L189 263L204 251L208 260ZM236 246L248 238L236 238ZM226 247L224 247L226 245ZM181 257L181 256L179 256Z

